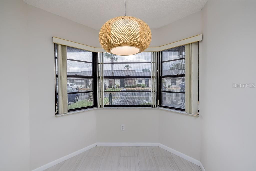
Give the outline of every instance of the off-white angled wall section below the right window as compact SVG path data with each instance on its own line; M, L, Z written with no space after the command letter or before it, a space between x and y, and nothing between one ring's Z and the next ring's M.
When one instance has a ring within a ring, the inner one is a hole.
M159 110L159 143L200 161L200 117Z

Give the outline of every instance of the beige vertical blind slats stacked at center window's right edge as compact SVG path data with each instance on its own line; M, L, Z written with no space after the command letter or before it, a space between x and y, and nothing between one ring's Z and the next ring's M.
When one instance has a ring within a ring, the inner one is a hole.
M157 108L157 52L152 52L152 108Z

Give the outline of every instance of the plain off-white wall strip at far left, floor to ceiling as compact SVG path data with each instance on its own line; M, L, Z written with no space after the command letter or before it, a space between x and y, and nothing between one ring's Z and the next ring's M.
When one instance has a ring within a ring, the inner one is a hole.
M0 170L29 170L26 4L0 1L0 16Z

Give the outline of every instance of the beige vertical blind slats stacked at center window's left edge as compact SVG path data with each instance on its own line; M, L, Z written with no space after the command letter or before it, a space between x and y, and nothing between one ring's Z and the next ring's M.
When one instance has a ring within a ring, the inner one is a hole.
M98 108L104 107L104 65L103 65L103 53L100 52L98 55Z

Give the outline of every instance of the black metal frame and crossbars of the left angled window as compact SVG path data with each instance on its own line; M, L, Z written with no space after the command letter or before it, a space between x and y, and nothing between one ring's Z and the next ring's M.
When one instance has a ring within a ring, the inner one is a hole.
M56 59L58 59L58 56L56 56L57 52L57 46L58 44L54 44L54 49L55 49L55 103L57 104L57 88L56 88L56 82L58 79L58 74L56 73ZM79 48L76 48L79 49ZM92 62L88 61L81 61L81 60L74 60L74 59L67 59L67 61L76 61L76 62L84 62L84 63L91 63L92 64L92 76L80 76L80 75L67 75L68 78L82 78L82 79L93 79L93 91L82 91L82 92L76 92L76 94L82 94L82 93L93 93L93 105L92 106L86 106L82 108L76 108L76 109L69 109L68 112L73 112L73 111L79 111L79 110L84 110L84 109L90 109L90 108L96 108L98 106L98 84L97 84L97 63L98 63L98 56L96 52L92 52ZM74 93L68 93L68 94L74 94ZM56 114L59 114L57 111Z

